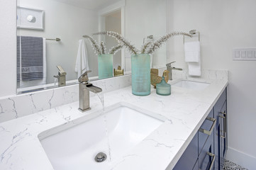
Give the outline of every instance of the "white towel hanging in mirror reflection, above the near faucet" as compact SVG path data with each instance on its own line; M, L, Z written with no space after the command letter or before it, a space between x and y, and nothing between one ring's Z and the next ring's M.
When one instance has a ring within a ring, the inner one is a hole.
M77 52L77 62L74 67L74 72L77 72L79 78L84 72L89 70L87 48L85 47L84 40L79 40L79 47Z

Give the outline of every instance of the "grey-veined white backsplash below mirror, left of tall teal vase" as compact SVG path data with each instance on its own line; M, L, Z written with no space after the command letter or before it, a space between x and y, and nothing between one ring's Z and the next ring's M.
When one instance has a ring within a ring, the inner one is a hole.
M131 76L126 75L123 77L92 81L92 84L99 86L102 91L106 93L130 86ZM57 89L48 89L45 91L36 91L29 94L1 98L0 123L78 101L78 91L78 84L74 84ZM90 93L90 95L94 96L95 94Z

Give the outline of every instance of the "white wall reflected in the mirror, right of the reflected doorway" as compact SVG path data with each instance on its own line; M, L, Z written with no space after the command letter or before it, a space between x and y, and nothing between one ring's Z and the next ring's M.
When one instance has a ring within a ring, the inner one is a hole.
M138 50L143 45L143 38L154 35L154 40L157 40L167 33L166 27L166 0L126 1L126 38ZM154 53L152 65L158 68L165 64L166 45L162 45L160 50ZM126 58L126 67L130 67L130 58Z

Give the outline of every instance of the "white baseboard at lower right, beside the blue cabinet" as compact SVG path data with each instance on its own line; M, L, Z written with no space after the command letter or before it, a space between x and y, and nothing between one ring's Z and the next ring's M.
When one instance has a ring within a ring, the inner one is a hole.
M234 162L235 164L239 164L246 169L256 169L256 157L240 152L232 147L228 147L226 159L228 159L230 162Z

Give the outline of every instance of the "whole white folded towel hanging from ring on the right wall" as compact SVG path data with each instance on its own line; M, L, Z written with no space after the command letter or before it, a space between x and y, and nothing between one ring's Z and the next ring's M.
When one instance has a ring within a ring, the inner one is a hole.
M201 76L200 42L185 42L185 62L189 66L189 75Z

